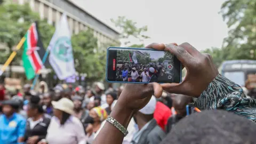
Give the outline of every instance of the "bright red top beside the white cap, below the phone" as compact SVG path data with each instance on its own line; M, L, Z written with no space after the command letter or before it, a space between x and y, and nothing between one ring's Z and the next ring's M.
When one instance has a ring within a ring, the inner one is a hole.
M168 118L172 115L172 111L169 107L165 106L162 102L156 103L156 109L154 118L157 124L164 130L167 124Z

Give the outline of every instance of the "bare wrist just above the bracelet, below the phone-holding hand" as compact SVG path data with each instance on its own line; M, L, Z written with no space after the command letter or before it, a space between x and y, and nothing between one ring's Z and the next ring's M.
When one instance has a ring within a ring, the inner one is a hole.
M134 110L125 107L125 105L122 105L121 102L117 101L115 108L110 113L110 116L115 118L117 122L127 128L131 121L133 113Z

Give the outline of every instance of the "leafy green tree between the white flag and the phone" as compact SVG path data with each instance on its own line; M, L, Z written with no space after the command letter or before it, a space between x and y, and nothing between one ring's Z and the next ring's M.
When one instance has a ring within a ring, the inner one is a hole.
M106 51L99 51L98 39L91 30L81 31L71 38L76 71L86 73L89 82L101 80L105 75Z

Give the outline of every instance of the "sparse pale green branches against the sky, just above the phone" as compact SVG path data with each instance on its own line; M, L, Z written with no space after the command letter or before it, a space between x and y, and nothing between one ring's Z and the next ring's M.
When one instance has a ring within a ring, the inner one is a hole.
M130 19L127 19L125 17L118 17L116 20L111 19L111 22L114 23L114 25L121 29L121 35L120 38L124 40L124 45L130 45L130 38L136 38L139 39L139 41L142 43L145 39L150 38L149 36L144 35L143 33L147 32L148 27L137 27L137 22L134 22ZM143 44L133 44L129 47L143 47Z

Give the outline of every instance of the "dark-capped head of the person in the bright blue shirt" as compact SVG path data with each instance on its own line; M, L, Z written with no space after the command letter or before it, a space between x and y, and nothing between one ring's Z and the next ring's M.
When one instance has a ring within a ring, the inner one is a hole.
M19 110L19 102L15 100L6 100L2 103L2 111L5 116L12 116Z

